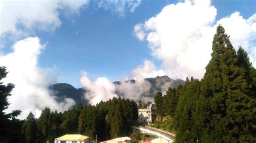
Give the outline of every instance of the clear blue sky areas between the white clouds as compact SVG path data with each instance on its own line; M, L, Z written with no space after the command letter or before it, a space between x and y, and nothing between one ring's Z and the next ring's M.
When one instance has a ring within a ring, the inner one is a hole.
M166 5L179 1L142 1L134 12L127 10L124 16L110 9L98 8L98 1L91 1L79 14L66 15L60 12L62 24L55 31L35 30L35 35L46 43L39 56L39 67L54 67L57 82L71 83L80 87L80 71L85 70L90 78L107 77L118 81L143 60L152 60L157 68L161 61L151 55L147 41L134 36L133 27L156 16ZM181 1L182 2L182 1ZM212 1L219 20L235 11L245 19L255 13L256 1ZM216 20L216 21L217 21ZM16 41L24 37L17 38ZM13 40L5 40L3 52L10 52Z

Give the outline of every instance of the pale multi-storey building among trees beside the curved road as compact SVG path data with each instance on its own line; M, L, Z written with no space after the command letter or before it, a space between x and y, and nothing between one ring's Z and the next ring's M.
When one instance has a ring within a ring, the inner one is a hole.
M154 115L154 108L152 108L152 104L147 106L146 109L139 109L139 123L147 123L151 124L154 119L156 119L156 115Z

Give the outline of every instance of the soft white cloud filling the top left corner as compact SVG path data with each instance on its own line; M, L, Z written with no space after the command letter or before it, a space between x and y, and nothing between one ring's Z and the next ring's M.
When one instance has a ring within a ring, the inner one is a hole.
M0 35L17 37L35 30L54 31L60 26L59 11L78 13L89 0L0 1Z

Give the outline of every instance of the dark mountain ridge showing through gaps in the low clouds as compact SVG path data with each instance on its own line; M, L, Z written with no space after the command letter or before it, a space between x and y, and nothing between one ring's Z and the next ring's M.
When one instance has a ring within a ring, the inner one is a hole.
M157 91L162 91L163 94L165 94L166 90L171 87L171 88L177 88L178 85L184 84L185 81L177 79L173 80L172 78L168 76L157 76L154 78L145 78L144 79L146 82L150 83L150 89L144 91L140 97L149 97L149 98L154 98L156 95ZM136 83L136 80L130 80L126 81L126 83ZM113 82L114 85L120 85L122 82L120 81L115 81ZM50 90L52 90L53 95L56 96L56 99L58 102L64 101L65 98L72 98L76 104L82 103L82 104L89 104L88 99L85 98L86 90L84 88L75 88L72 85L68 83L56 83L52 84L49 87ZM118 96L123 96L122 92L119 90L116 91L116 94ZM144 101L147 102L147 101Z

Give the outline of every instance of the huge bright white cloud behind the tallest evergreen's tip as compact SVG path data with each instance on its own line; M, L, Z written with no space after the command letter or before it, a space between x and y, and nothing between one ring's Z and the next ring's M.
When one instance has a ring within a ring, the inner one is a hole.
M255 14L244 19L234 12L215 22L216 15L210 0L171 4L144 24L135 25L134 35L149 43L152 55L163 61L163 70L173 78L203 77L218 24L236 48L241 45L250 53L255 65Z

